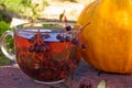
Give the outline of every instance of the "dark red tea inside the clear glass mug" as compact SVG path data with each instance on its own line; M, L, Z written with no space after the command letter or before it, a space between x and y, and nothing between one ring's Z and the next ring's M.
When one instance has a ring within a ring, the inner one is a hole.
M31 36L36 33L26 30L16 31L14 34L15 55L20 68L31 78L38 81L58 81L69 76L78 66L80 55L78 48L70 42L56 41L55 34L51 40L43 40L50 46L48 51L30 52L34 42ZM43 33L42 33L43 34Z

